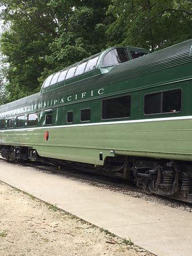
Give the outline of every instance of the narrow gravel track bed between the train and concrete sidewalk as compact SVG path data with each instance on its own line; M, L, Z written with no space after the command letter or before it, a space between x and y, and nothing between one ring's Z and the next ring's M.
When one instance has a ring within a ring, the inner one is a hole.
M0 158L2 161L6 161ZM137 197L146 201L151 201L153 203L158 203L162 205L167 205L168 207L185 210L187 212L192 212L192 204L183 201L178 201L164 196L159 195L149 195L142 189L135 187L133 184L127 183L126 180L122 180L119 177L109 177L97 174L96 172L90 172L87 170L79 170L77 168L58 168L51 164L44 164L38 162L19 162L12 163L26 168L32 168L36 171L46 172L51 175L58 175L66 179L78 181L81 183L86 183L93 185L98 188L107 189L114 191L116 193L121 193L123 195L129 195L132 197Z

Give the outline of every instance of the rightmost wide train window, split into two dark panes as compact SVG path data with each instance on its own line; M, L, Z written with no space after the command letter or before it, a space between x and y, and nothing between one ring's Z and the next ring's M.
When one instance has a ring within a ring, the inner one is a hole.
M144 97L144 114L180 112L181 98L181 89L146 94Z

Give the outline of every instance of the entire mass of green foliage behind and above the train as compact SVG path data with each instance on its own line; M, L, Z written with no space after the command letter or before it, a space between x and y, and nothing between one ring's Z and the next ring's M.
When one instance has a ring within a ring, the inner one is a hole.
M190 0L2 0L0 104L107 46L152 51L192 38Z

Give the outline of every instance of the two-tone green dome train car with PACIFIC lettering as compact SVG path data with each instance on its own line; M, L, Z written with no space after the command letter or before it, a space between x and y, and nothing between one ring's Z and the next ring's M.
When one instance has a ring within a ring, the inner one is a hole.
M107 49L2 105L2 157L103 170L192 203L192 39L148 53Z

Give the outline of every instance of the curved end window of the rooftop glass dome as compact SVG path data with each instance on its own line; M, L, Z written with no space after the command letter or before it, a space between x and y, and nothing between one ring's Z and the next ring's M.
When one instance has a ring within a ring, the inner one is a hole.
M112 49L110 52L108 52L104 59L103 59L103 65L104 66L112 66L119 63L123 63L130 60L128 57L127 49L126 48L116 48Z

